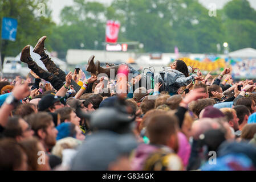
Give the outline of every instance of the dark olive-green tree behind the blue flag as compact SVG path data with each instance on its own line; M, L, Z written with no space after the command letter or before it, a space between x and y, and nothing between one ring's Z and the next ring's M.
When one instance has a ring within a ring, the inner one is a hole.
M46 6L46 16L38 16L38 4L46 4L46 0L2 0L0 1L0 30L2 18L9 17L18 20L18 30L15 42L1 40L2 60L6 55L16 56L27 44L35 46L43 35L50 35L54 23L51 21L51 11ZM48 47L51 49L51 47Z

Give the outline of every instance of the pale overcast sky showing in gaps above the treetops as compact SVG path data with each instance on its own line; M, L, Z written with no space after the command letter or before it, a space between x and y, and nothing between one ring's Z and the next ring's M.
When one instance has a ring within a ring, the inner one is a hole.
M97 1L101 3L105 3L107 5L110 5L112 0L88 0L88 1ZM216 3L217 9L221 9L225 3L229 2L231 0L199 0L202 5L204 5L206 8L209 6L210 3ZM256 9L256 0L248 0L251 4L251 7L254 7ZM52 19L54 22L59 23L59 14L60 11L63 9L64 6L71 6L73 5L73 0L49 0L50 9L52 10Z

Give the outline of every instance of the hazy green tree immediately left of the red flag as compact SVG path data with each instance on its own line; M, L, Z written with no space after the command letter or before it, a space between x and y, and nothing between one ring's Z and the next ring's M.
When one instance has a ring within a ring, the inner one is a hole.
M54 34L50 37L51 47L58 51L60 58L66 57L68 49L100 49L100 43L104 42L105 14L110 13L110 9L107 11L98 2L74 2L74 6L66 6L61 11L61 23L54 27Z

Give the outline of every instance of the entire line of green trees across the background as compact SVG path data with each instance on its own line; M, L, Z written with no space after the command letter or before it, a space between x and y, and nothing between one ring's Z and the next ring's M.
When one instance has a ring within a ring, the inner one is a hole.
M209 16L197 0L114 0L111 5L73 0L73 6L62 9L60 24L52 22L50 11L45 17L33 16L33 7L44 0L15 0L11 5L13 1L0 2L0 18L18 18L17 41L1 42L7 44L2 51L8 56L42 35L48 36L47 49L62 59L68 49L104 49L108 19L121 24L119 42L143 43L143 52L174 52L177 46L181 52L221 53L217 44L224 42L230 51L256 48L256 11L247 0L226 3L216 16Z

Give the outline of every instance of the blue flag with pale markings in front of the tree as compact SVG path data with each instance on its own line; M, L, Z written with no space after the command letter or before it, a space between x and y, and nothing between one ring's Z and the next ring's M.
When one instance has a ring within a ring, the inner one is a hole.
M4 17L2 22L2 39L15 41L17 26L17 19Z

